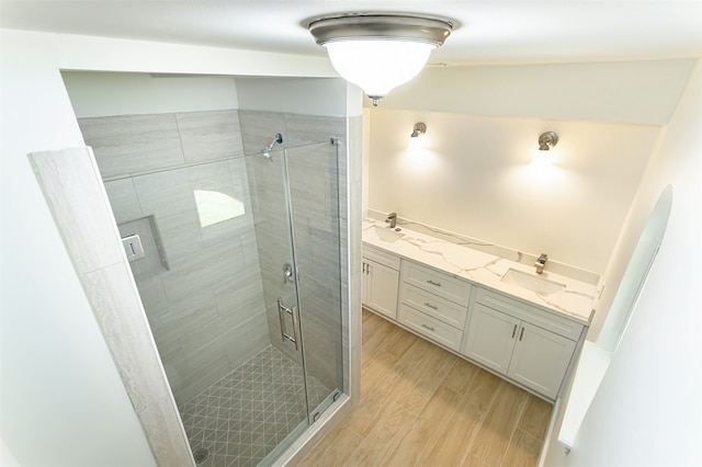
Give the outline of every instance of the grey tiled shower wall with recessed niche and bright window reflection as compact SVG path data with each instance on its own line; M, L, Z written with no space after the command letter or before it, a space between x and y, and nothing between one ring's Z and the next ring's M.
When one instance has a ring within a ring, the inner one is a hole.
M171 389L182 405L269 344L237 111L81 118ZM194 191L245 214L201 226Z

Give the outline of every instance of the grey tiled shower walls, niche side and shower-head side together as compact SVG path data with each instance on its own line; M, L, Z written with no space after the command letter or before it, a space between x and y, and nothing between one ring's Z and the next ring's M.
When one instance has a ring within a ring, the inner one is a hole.
M288 248L285 238L265 226L265 219L279 216L275 209L284 205L272 203L265 206L272 210L252 217L247 170L267 170L260 166L265 160L248 158L247 167L244 155L260 152L275 133L285 135L285 147L339 137L343 172L346 119L218 111L79 123L86 143L93 147L122 235L138 232L145 244L147 257L132 263L133 272L177 401L183 403L208 387L269 340L295 357L280 339L276 299L283 296L282 269L278 259L268 259L271 251ZM329 210L329 196L339 178L325 172L328 168L315 161L315 155L308 158L299 169L291 164L291 180L299 181L299 196L295 186L292 190L299 210L295 228L302 229L297 259L305 272L301 300L307 368L335 388L341 385L341 367L335 362L341 329L338 305L330 304L338 304L340 278L333 265L339 261L338 246L330 239L336 242L333 229L338 232L339 223L338 213ZM318 194L309 190L315 183L326 184ZM245 214L202 227L194 190L240 200Z

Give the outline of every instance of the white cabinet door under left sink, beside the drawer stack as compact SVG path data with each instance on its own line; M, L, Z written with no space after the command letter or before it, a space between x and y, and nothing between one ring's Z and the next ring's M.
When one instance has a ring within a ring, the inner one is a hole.
M398 271L363 259L363 305L396 319L398 286Z

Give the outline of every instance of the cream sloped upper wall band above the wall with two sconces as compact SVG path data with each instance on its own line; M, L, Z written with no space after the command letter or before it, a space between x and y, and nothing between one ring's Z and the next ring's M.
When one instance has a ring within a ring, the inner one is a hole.
M476 115L668 122L693 60L426 68L381 102Z

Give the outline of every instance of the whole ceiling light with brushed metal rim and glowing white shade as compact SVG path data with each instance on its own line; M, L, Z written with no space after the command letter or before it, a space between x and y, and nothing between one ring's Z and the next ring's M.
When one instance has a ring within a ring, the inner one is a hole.
M409 14L349 13L313 20L308 29L327 48L337 72L377 105L393 88L421 71L453 23Z

